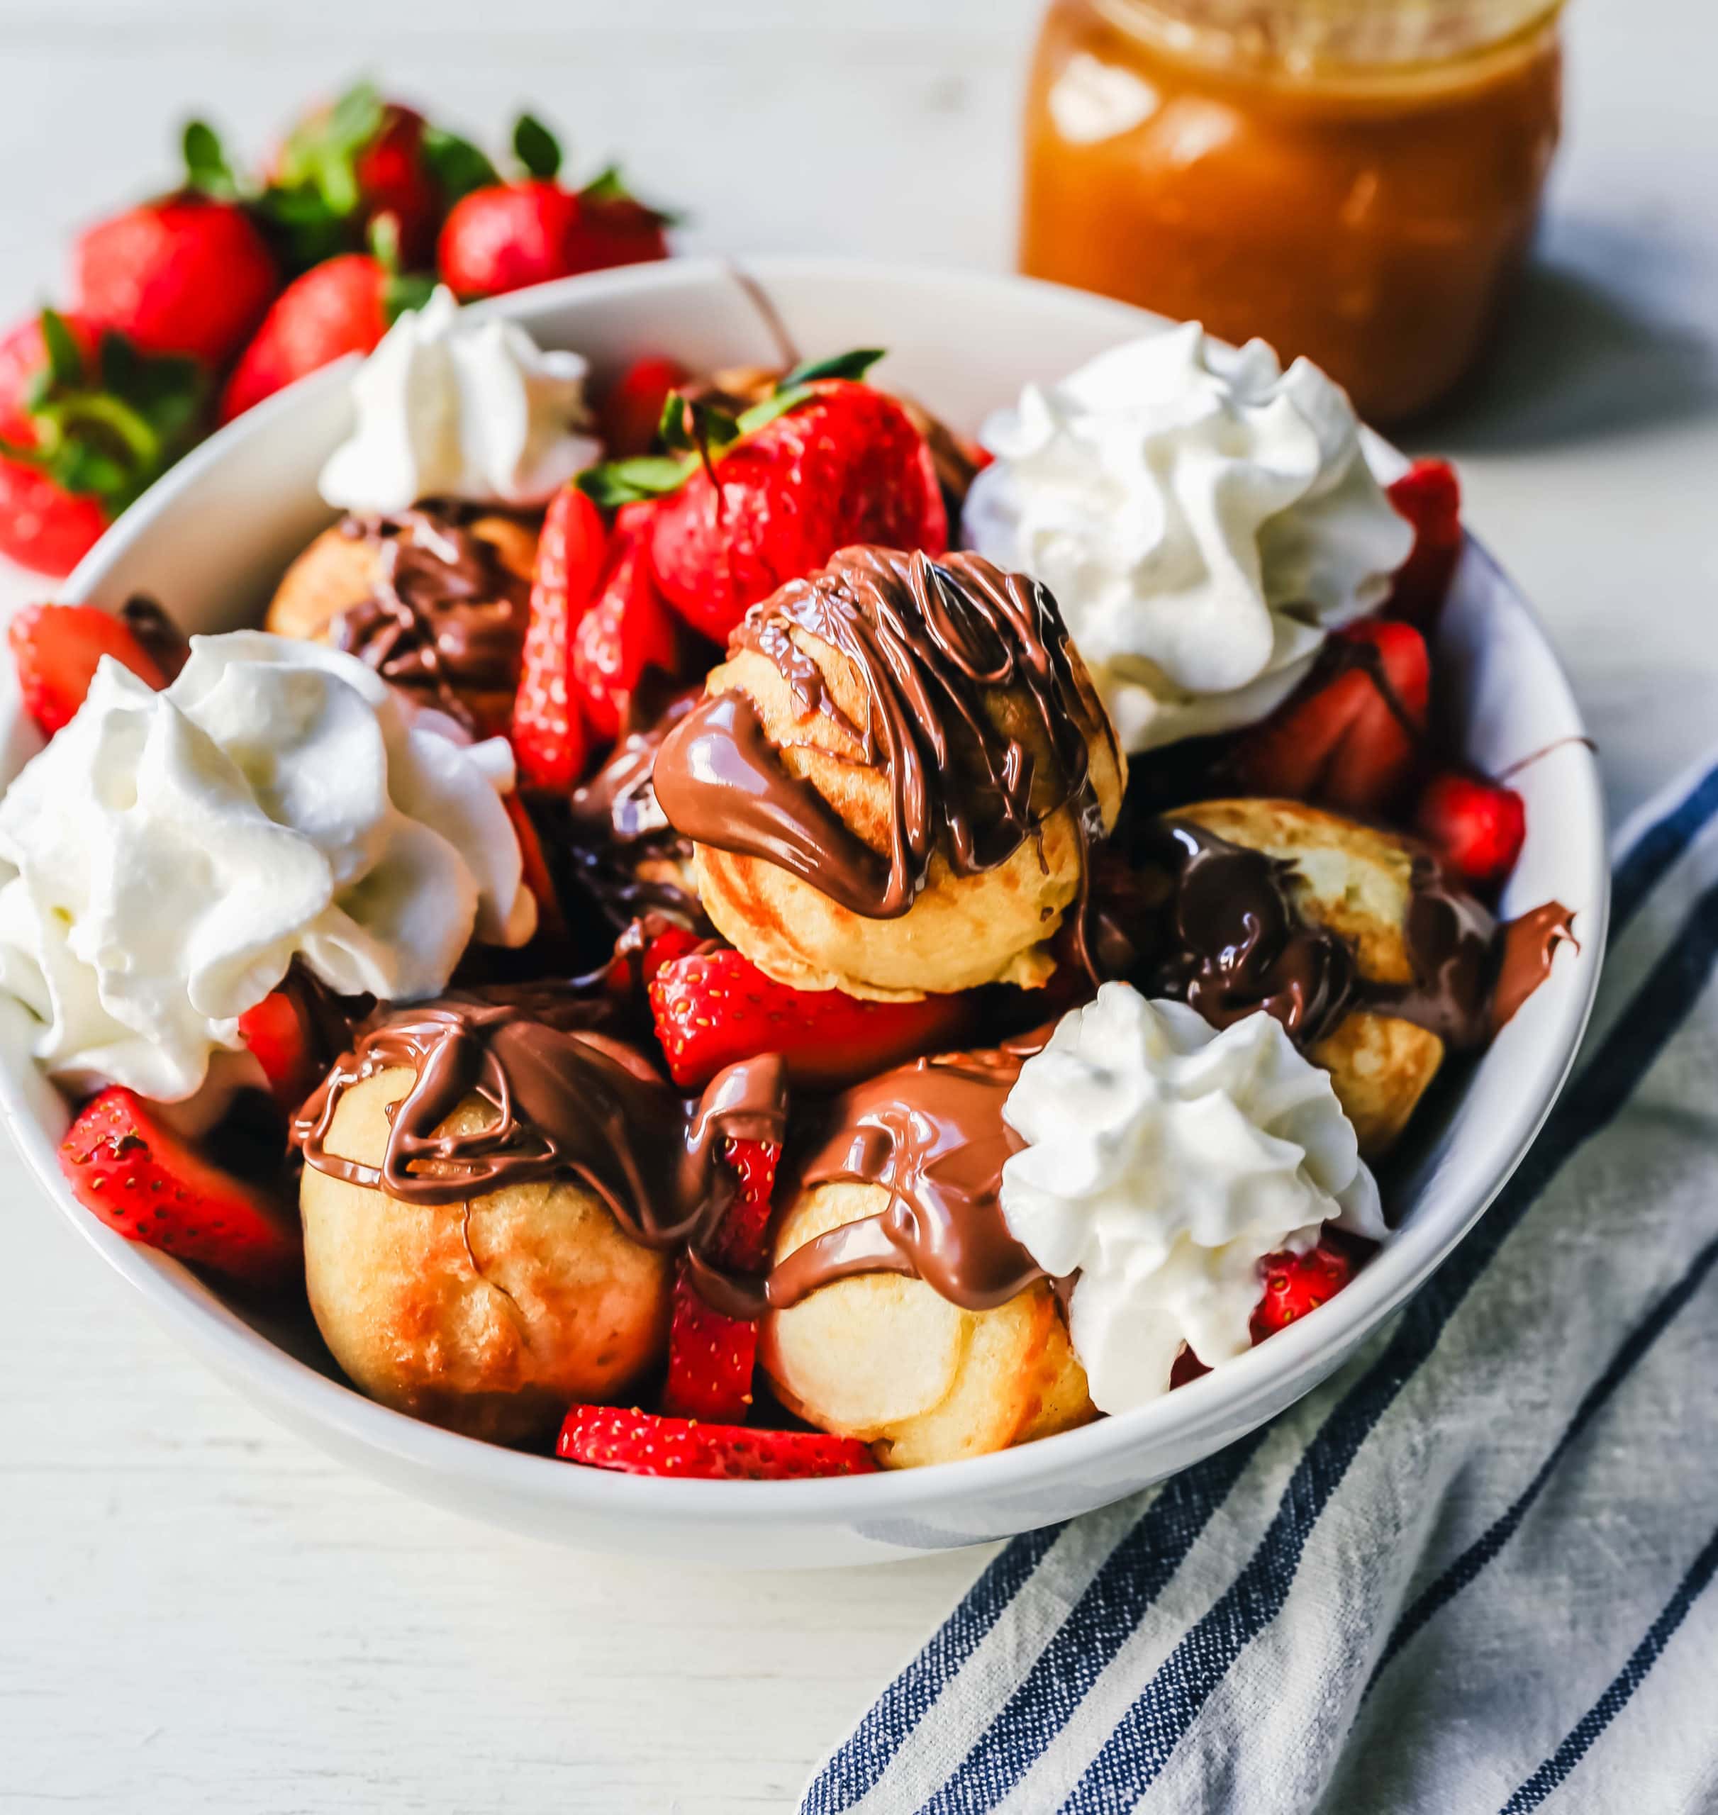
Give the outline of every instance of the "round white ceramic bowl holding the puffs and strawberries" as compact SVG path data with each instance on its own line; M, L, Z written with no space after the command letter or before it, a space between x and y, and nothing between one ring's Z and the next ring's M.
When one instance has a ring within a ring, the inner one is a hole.
M757 260L748 270L806 356L888 347L883 381L968 430L1024 379L1062 374L1155 325L1122 305L1013 278L830 260ZM487 307L543 345L585 352L597 370L643 350L694 368L777 354L755 301L717 261L605 272ZM254 623L291 555L331 519L314 481L347 427L347 376L334 368L294 385L202 446L125 514L62 595L118 606L143 590L191 630ZM1382 445L1375 452L1393 459ZM1482 768L1580 733L1538 621L1473 544L1438 643L1467 755ZM0 701L0 780L35 748L11 693ZM1515 1169L1575 1055L1607 911L1589 751L1564 742L1515 786L1527 800L1527 846L1506 906L1569 904L1580 953L1558 957L1395 1178L1400 1234L1331 1303L1260 1349L1139 1412L1001 1456L835 1481L650 1481L450 1436L361 1398L300 1327L242 1314L82 1211L54 1163L65 1105L29 1067L16 1006L11 1018L0 1015L0 1111L47 1202L163 1323L283 1423L409 1492L559 1543L759 1566L879 1561L1004 1537L1160 1481L1298 1399L1424 1283Z

